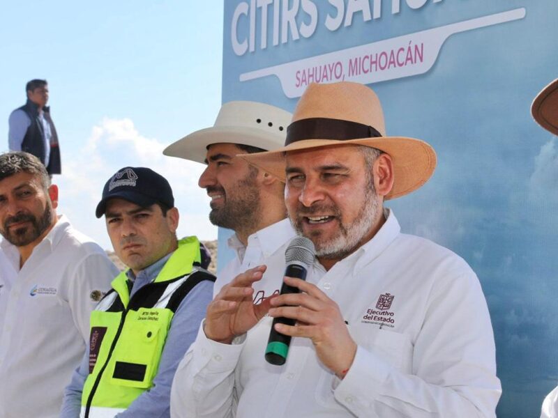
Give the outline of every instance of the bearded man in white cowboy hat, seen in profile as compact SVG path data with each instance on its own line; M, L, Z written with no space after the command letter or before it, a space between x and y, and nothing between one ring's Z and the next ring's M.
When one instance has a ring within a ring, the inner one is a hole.
M193 132L163 152L206 164L198 184L211 197L209 219L234 231L228 240L234 258L219 267L214 294L236 274L261 264L264 258L270 265L285 265L284 246L295 235L286 219L285 183L237 155L282 147L291 116L269 104L227 102L213 127ZM254 302L267 296L256 291Z

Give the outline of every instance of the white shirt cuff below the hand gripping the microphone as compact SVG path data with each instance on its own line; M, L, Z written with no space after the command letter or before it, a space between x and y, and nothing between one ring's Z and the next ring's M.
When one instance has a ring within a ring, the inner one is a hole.
M385 385L391 366L374 353L358 346L353 364L345 378L333 378L332 389L335 400L347 409L361 416L370 415L373 404Z

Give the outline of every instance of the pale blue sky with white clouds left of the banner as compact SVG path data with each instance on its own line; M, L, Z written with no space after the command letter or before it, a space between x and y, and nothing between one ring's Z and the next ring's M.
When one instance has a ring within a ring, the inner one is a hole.
M179 235L215 239L202 165L163 148L213 125L221 103L223 2L6 2L0 15L0 150L29 79L47 79L63 175L59 212L110 248L94 209L107 178L151 167L171 183Z

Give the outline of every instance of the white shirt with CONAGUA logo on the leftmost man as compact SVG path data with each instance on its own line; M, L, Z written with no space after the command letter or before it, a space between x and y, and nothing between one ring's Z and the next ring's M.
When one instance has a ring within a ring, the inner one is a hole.
M17 277L9 293L0 292L0 417L58 417L89 338L89 315L118 269L64 216L21 270L17 247L1 246Z

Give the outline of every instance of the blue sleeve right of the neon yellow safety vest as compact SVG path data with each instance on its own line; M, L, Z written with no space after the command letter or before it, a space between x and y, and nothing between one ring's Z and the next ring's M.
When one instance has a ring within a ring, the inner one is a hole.
M153 387L138 396L118 418L159 418L170 415L172 378L184 353L193 343L197 329L212 300L213 282L202 281L188 293L176 309L161 355Z

